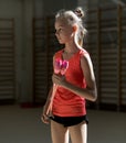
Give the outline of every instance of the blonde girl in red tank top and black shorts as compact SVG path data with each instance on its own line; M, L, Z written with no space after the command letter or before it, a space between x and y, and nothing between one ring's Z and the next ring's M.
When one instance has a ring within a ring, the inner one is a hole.
M64 48L54 54L53 65L55 59L65 59L69 68L63 76L53 74L56 92L52 98L51 88L43 108L42 121L49 123L51 119L53 143L69 143L69 135L72 143L87 143L85 100L95 101L97 91L90 54L82 47L86 33L83 16L81 8L61 10L55 15L55 35Z

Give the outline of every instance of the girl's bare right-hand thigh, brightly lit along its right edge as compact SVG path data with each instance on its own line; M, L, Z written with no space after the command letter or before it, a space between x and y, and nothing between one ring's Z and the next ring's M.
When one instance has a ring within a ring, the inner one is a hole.
M69 128L72 143L87 143L87 124L83 121L80 124Z

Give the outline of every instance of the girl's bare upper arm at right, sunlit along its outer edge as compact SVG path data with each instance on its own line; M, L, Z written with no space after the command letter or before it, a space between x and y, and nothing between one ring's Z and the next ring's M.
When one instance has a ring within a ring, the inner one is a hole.
M93 64L88 54L84 54L81 57L81 67L83 70L84 78L86 80L87 88L95 89L95 76Z

